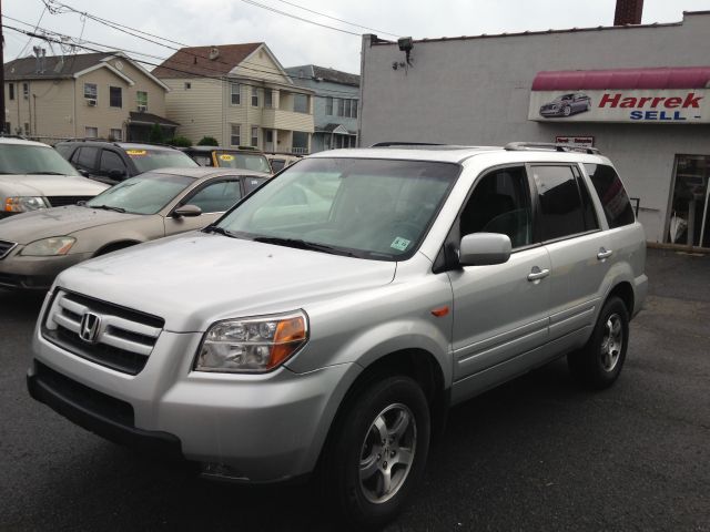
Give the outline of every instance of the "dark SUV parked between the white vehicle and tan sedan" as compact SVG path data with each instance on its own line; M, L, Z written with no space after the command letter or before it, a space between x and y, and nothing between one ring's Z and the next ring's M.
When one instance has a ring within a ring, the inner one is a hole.
M197 166L180 150L161 144L78 140L54 149L83 175L111 185L151 170Z

